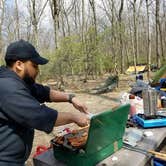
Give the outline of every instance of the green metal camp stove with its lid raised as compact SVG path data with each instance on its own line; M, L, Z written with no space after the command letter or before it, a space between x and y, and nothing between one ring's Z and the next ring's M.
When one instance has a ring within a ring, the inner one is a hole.
M123 145L129 108L130 105L126 104L93 116L83 152L53 146L55 158L69 166L93 166L119 150Z

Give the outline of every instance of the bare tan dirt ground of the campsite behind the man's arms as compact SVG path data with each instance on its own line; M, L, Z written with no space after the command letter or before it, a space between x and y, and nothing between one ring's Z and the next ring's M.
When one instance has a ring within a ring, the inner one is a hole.
M68 81L68 87L65 89L67 93L75 93L76 96L80 99L80 101L84 102L89 112L98 113L101 111L108 110L119 105L119 98L123 92L129 91L129 84L135 80L135 75L120 75L119 86L109 93L104 93L100 95L91 95L89 93L85 93L89 89L92 89L101 83L103 83L108 75L103 76L102 78L96 80L89 80L86 83L83 81ZM77 111L73 108L72 104L69 103L46 103L49 107L54 108L58 111ZM33 166L32 158L36 151L36 147L40 145L49 146L50 140L54 138L57 134L57 131L62 127L55 127L51 134L46 134L41 131L35 131L35 138L33 143L33 149L30 158L27 161L27 166Z

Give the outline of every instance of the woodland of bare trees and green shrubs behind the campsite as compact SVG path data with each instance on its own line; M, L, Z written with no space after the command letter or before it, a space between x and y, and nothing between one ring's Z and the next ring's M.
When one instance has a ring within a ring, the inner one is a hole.
M28 40L50 60L40 80L150 72L166 63L165 36L166 0L0 0L0 63L10 42Z

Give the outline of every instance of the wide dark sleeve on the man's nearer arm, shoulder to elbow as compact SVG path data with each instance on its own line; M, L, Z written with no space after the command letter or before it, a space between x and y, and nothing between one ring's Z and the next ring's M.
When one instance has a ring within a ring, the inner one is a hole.
M25 90L7 95L3 99L1 108L12 121L46 133L53 130L58 114L56 110L40 104Z

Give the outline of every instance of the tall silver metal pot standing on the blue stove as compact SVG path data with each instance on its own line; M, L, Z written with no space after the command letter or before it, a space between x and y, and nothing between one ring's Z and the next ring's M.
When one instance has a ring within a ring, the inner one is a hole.
M144 114L146 116L156 115L158 93L153 88L144 89L142 92Z

